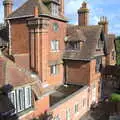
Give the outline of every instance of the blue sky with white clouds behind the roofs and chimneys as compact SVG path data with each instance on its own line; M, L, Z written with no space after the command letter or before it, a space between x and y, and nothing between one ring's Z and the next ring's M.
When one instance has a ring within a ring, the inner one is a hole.
M21 6L26 0L13 0L13 10ZM77 24L77 10L81 7L83 0L64 0L65 16L69 23ZM109 33L120 35L120 0L86 0L88 2L89 24L96 25L101 16L106 16L109 21ZM0 0L0 22L3 21L3 0Z

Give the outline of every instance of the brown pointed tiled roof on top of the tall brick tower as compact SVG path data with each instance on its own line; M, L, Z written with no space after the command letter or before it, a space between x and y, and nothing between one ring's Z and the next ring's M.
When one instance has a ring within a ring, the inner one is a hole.
M63 15L59 15L57 17L52 16L48 4L44 3L43 0L27 0L27 2L25 2L21 7L19 7L12 14L10 14L7 19L32 17L34 16L35 7L38 7L39 15L46 15L55 19L67 21L67 18L65 18Z

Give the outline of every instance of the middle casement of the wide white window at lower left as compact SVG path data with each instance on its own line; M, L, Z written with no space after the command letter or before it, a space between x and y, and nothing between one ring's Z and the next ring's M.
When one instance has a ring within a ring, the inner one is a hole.
M22 90L22 96L19 94L19 91ZM24 100L24 88L18 88L16 89L16 92L17 92L17 111L18 112L21 112L25 109L25 100ZM20 95L20 96L19 96ZM21 106L20 106L20 102L21 102Z

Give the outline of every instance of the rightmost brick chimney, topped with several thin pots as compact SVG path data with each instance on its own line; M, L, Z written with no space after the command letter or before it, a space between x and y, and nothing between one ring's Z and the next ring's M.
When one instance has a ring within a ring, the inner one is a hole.
M103 17L100 17L100 22L98 22L99 25L102 25L103 26L103 32L105 34L108 34L108 20L107 20L107 17L103 16Z

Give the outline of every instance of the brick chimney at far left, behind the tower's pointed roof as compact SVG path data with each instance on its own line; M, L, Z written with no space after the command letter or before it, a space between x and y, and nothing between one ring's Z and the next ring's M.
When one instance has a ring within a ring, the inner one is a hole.
M8 17L12 13L13 0L4 0L4 18Z

